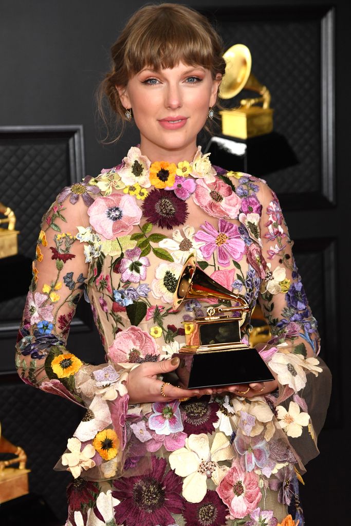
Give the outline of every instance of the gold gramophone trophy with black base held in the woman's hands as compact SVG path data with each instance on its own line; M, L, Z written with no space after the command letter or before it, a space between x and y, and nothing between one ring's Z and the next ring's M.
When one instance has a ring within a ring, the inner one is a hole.
M208 307L207 316L182 321L185 346L176 371L189 389L219 387L274 380L272 373L256 349L242 342L241 329L250 319L250 308L243 296L219 285L189 256L180 273L174 294L174 308L184 301L231 300L230 307Z

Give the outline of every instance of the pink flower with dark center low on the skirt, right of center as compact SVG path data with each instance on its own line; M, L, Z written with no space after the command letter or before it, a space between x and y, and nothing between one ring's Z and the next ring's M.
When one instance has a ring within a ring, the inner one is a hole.
M258 480L254 471L248 473L237 464L227 471L216 491L227 504L231 518L243 519L256 509L262 497Z

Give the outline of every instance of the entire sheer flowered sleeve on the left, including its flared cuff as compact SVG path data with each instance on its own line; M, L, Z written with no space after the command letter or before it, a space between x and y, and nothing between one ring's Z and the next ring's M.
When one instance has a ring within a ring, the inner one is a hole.
M82 232L91 236L87 209L93 203L85 191L89 187L75 186L78 194L73 187L64 189L43 217L18 333L16 366L26 383L88 409L68 440L58 469L68 469L74 477L88 470L89 477L99 480L114 474L117 465L123 466L117 458L122 458L125 446L127 373L111 363L84 363L66 348L77 303L88 287L89 257ZM93 187L92 192L96 193ZM108 450L105 458L103 451L97 462L93 457L106 440L113 454Z

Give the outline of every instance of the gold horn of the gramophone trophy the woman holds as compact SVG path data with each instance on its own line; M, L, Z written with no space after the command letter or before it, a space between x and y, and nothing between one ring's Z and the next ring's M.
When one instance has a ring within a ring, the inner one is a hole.
M173 296L173 307L178 309L183 301L189 299L226 299L239 302L240 305L247 306L242 296L234 294L217 281L210 278L196 263L196 258L192 254L186 260L177 287Z

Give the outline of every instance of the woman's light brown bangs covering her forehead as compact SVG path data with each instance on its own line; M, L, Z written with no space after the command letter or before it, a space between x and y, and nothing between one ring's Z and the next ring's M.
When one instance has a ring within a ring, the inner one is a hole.
M129 78L145 67L158 71L173 68L179 62L213 69L213 41L204 27L197 27L194 20L187 19L182 24L174 17L157 17L151 19L139 35L135 33L129 36L125 47Z

